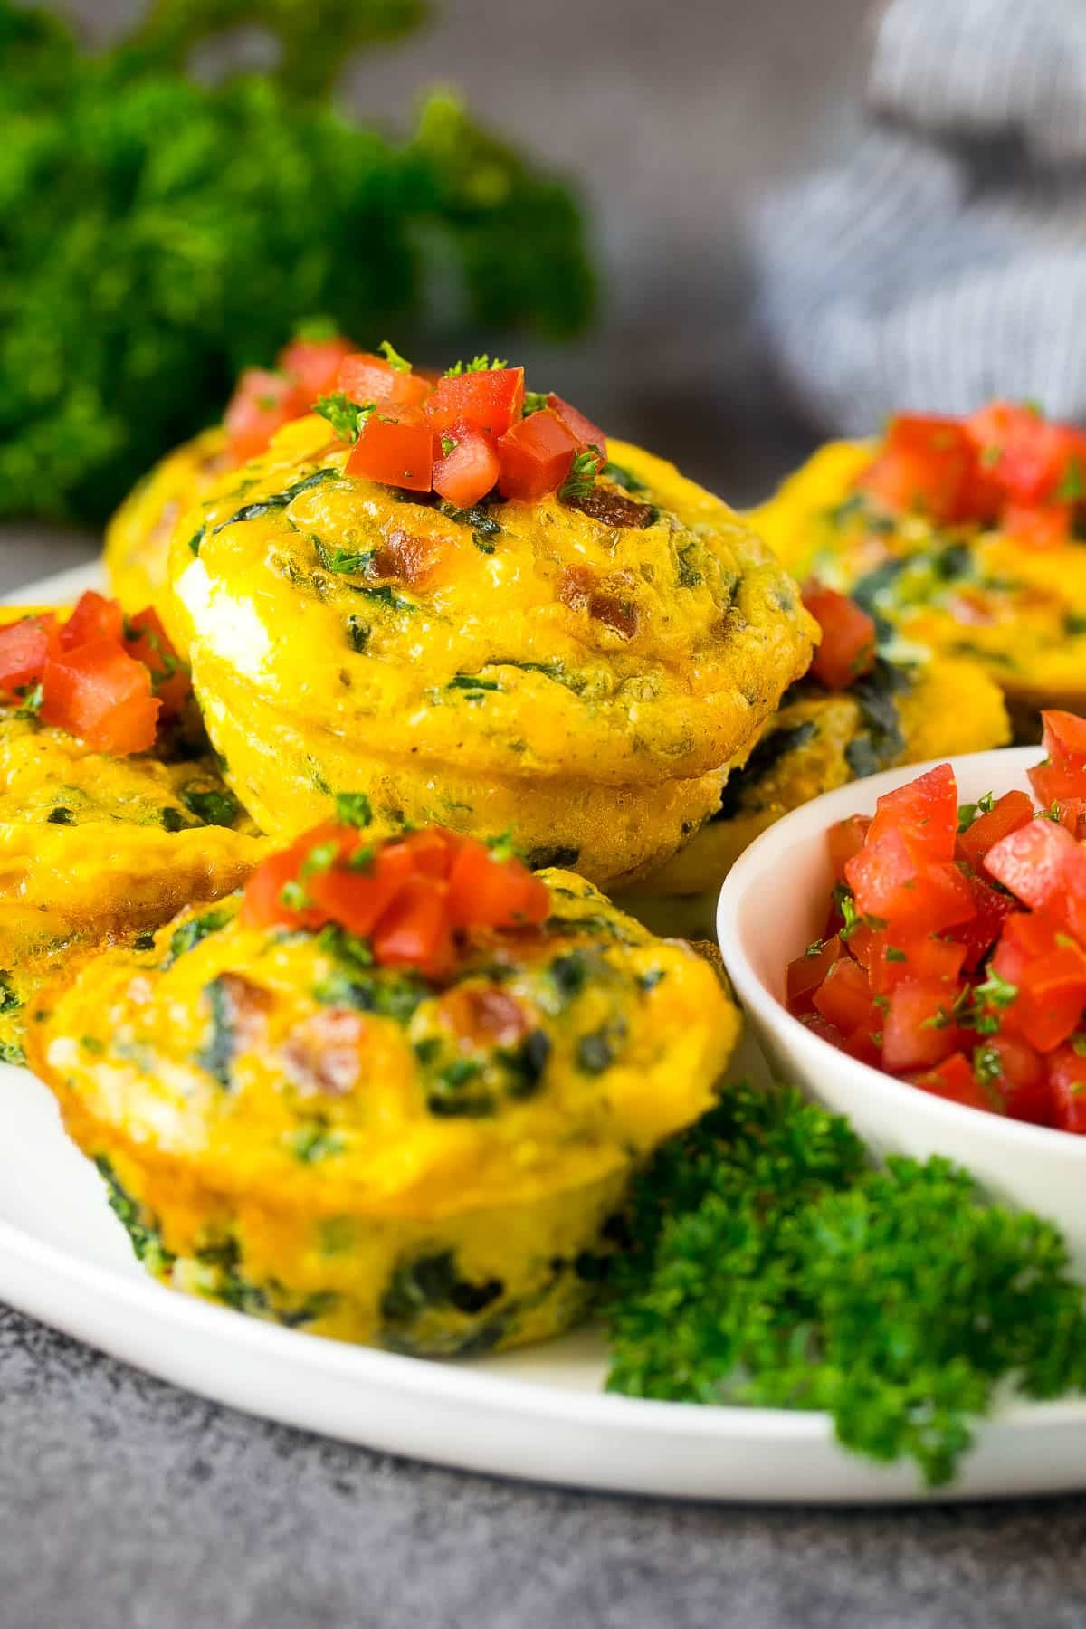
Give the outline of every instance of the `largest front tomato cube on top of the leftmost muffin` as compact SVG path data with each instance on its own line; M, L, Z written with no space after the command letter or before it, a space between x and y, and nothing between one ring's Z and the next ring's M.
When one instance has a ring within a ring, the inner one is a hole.
M59 652L46 663L42 723L80 736L94 751L117 756L148 751L160 710L148 670L112 640Z

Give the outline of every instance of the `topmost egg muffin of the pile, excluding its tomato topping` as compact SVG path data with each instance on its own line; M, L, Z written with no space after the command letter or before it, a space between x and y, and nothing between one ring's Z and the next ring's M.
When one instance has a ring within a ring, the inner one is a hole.
M725 503L637 448L611 458L575 490L462 510L348 474L306 417L182 518L194 684L264 829L361 787L384 832L508 831L602 883L702 824L814 624Z

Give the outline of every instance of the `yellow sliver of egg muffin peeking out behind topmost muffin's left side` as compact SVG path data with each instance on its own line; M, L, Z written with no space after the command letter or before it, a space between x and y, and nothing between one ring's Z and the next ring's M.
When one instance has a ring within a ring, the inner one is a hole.
M129 494L106 528L104 567L111 593L130 614L155 606L179 645L166 591L169 538L181 518L233 468L230 437L213 427L174 448Z

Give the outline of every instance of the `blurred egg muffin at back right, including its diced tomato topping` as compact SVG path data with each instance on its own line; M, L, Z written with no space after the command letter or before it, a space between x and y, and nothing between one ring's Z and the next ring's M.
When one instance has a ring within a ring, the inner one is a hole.
M1034 735L1086 705L1079 432L996 404L835 441L747 515L801 580L852 595L904 655L979 661Z

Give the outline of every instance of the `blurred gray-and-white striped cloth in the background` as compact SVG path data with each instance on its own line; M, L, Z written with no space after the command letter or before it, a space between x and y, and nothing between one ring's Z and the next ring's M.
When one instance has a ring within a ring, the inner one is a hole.
M752 243L821 428L993 396L1086 420L1086 0L889 0L860 138Z

